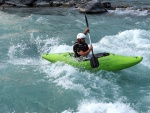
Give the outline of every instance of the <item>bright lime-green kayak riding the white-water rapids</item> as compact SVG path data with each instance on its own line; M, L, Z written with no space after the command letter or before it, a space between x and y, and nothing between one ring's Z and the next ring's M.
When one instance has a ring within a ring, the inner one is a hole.
M98 58L99 67L91 68L90 59L76 59L74 53L54 53L54 54L42 54L42 57L52 63L65 62L77 68L83 68L87 70L106 70L117 71L125 68L129 68L140 63L143 59L141 56L122 56L112 53L98 53L95 57Z

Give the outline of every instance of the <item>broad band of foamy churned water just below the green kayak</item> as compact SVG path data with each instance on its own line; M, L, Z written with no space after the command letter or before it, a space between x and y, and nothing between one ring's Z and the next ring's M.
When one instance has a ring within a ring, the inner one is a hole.
M100 71L98 73L91 73L89 71L81 71L65 63L50 63L40 66L41 73L45 73L46 80L61 86L66 90L77 91L85 97L94 97L99 95L102 100L108 100L107 96L111 98L119 98L119 89L112 76L116 76L111 72ZM105 76L105 77L103 77ZM105 80L107 78L107 80ZM107 87L107 89L106 89Z

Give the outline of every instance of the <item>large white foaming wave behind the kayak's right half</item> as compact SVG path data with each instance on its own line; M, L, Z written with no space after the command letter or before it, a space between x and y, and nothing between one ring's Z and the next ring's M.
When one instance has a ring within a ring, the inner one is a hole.
M150 68L150 31L126 30L114 36L105 36L93 44L96 52L111 52L127 56L143 56L143 65Z

